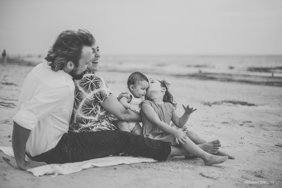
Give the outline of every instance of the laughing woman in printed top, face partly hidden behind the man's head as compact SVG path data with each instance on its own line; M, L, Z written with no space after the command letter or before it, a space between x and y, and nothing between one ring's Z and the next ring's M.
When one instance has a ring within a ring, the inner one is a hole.
M107 113L129 122L140 121L140 116L125 109L112 94L108 84L95 75L99 70L100 52L97 42L92 46L93 58L81 80L75 80L75 100L70 120L71 132L117 130Z

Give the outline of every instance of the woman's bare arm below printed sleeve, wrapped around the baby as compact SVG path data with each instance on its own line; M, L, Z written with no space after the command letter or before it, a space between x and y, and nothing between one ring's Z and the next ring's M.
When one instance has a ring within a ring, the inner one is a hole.
M120 120L127 122L141 121L140 115L124 108L123 105L118 102L114 94L110 94L110 96L101 103L101 105Z

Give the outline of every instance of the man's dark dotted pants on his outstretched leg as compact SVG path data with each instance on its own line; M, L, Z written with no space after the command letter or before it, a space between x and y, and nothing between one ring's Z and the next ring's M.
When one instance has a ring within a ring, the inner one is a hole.
M105 130L65 133L54 149L30 158L47 164L61 164L125 153L166 160L170 152L171 148L167 143L126 131Z

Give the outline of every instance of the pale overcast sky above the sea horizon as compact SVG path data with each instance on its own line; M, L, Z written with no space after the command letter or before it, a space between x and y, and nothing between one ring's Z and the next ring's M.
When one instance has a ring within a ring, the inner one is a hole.
M0 0L0 50L47 53L67 29L103 54L282 54L281 0Z

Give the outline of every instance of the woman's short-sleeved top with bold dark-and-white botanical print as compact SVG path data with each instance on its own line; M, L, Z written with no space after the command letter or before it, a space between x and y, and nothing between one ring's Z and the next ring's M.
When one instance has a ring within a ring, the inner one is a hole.
M107 118L102 103L112 94L100 77L85 71L81 80L75 80L75 99L70 119L71 132L117 130Z

